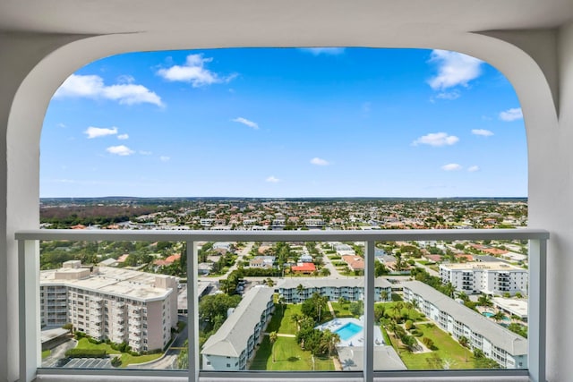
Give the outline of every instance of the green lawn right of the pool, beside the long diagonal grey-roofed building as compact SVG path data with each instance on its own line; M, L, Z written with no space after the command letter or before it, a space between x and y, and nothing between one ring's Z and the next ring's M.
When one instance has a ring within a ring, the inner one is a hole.
M432 339L436 350L433 352L411 353L397 348L397 340L392 337L391 342L407 369L443 369L443 363L449 363L449 369L474 369L474 356L472 352L458 344L448 333L429 324L416 326L423 332L423 336ZM423 337L418 337L422 341Z

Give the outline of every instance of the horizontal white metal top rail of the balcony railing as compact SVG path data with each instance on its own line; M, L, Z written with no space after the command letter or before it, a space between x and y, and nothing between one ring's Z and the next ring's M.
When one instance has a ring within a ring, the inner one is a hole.
M371 231L163 231L36 229L15 233L16 240L142 241L142 242L360 242L454 240L548 240L543 229L446 229Z

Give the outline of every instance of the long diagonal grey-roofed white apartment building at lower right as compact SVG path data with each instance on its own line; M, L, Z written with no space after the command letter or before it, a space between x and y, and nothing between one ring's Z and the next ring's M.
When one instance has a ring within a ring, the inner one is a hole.
M481 350L505 369L527 368L527 340L483 317L420 281L404 285L404 300L457 340L465 336L471 349Z

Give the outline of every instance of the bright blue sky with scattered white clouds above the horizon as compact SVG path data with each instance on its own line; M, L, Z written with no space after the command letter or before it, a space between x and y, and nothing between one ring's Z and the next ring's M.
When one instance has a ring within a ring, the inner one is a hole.
M527 195L517 95L454 52L115 55L56 91L41 197Z

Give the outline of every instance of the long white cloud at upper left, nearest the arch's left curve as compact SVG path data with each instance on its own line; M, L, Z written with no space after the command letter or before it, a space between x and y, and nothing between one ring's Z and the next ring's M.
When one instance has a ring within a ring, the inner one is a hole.
M143 85L120 83L106 86L98 75L72 74L56 90L54 98L104 98L120 105L149 103L163 106L161 98Z

